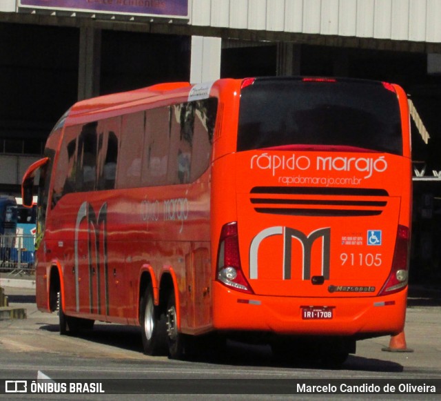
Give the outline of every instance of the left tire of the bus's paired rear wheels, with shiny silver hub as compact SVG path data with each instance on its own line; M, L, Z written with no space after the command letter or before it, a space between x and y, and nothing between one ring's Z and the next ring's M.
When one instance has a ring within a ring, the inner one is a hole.
M143 349L146 355L167 355L167 326L165 313L154 306L153 288L149 284L141 297L140 317Z

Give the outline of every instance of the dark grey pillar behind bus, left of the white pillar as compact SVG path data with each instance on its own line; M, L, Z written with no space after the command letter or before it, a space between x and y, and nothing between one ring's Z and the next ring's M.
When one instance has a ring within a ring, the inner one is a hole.
M80 28L78 99L99 95L101 70L101 30L88 26Z

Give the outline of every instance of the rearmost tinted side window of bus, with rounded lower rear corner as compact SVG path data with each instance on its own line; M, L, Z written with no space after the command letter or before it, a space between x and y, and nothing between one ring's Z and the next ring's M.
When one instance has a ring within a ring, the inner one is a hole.
M212 154L217 104L210 98L145 112L143 185L186 184L201 177Z

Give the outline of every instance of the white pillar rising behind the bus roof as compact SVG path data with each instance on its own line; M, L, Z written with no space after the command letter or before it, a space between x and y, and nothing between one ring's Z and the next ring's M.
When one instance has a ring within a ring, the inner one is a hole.
M218 37L192 37L190 82L198 84L220 78L220 51L222 39Z

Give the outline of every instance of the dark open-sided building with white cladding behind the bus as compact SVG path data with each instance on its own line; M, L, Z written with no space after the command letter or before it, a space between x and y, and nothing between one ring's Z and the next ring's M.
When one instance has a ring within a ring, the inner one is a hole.
M77 99L218 77L392 81L411 99L413 258L439 276L439 21L439 0L2 0L0 192Z

